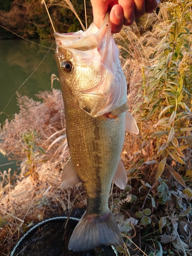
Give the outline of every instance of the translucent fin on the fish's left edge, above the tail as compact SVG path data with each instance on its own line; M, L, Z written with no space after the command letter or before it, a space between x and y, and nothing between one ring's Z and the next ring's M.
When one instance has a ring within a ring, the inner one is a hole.
M66 165L63 168L62 177L61 177L61 187L68 188L72 187L78 183L82 182L79 176L76 173L75 167L71 160L71 157L67 161Z

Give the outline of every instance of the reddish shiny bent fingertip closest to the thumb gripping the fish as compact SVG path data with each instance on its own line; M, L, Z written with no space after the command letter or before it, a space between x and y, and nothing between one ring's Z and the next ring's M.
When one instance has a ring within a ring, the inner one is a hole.
M110 20L112 24L112 33L118 33L123 27L123 12L120 5L114 5L110 12Z

